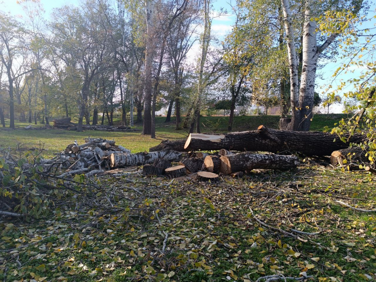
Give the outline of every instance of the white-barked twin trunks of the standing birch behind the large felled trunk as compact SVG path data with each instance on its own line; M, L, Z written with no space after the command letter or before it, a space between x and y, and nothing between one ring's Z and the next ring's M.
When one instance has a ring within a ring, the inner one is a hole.
M340 36L340 29L329 34L319 44L317 39L317 23L315 17L323 14L326 7L317 0L305 2L305 12L302 30L302 71L299 83L298 58L296 53L296 34L293 27L290 0L281 0L284 13L285 32L287 35L288 62L290 66L290 96L291 96L291 121L281 120L282 129L308 131L313 117L314 89L317 63L320 55ZM361 8L362 0L354 0L347 8L353 9L357 14Z

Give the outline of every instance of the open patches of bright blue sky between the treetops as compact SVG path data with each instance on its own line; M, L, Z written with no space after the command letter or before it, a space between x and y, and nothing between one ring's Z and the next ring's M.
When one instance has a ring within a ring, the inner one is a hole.
M80 0L40 0L40 2L41 2L42 6L44 7L44 9L46 11L46 15L49 15L53 8L58 8L58 7L61 7L61 6L64 6L64 5L76 5L76 6L78 6L81 1ZM9 11L14 15L21 15L22 14L21 7L20 7L20 5L17 4L17 0L5 0L5 1L0 0L0 4L1 4L0 9L2 9L3 11L6 11L6 12ZM227 33L229 33L231 28L232 28L231 26L232 26L232 24L235 20L235 17L232 15L231 5L235 6L235 4L236 4L235 0L216 0L216 1L213 0L213 6L214 6L215 10L219 11L220 8L224 8L228 12L228 15L222 15L220 17L215 17L214 20L213 20L212 32L219 39L223 39L224 36ZM376 8L375 3L371 2L370 11L373 11L373 12L370 12L369 15L375 14L375 12L374 12L375 8ZM374 27L375 23L376 23L376 21L369 22L369 23L367 23L367 27ZM199 49L199 45L196 44L196 46L193 47L192 52L190 52L192 54L192 58L196 57L193 54L195 52L197 52L198 49ZM328 64L325 65L324 68L322 68L319 71L319 73L323 75L324 79L321 79L319 77L317 78L317 80L316 80L316 83L317 83L316 91L317 92L321 93L324 90L325 85L332 82L332 74L338 68L338 66L340 66L341 64L343 64L343 61L340 61L340 60L338 60L337 62L329 62ZM338 77L337 81L334 81L334 83L332 83L332 85L335 88L335 85L337 85L337 83L339 83L340 79L347 80L351 77L359 76L360 71L361 70L354 69L354 73L351 73L351 72L348 72L347 74L343 73ZM346 89L346 91L350 91L350 90L352 90L351 86L349 86ZM331 112L341 112L341 110L342 110L341 107L342 107L341 105L332 106Z

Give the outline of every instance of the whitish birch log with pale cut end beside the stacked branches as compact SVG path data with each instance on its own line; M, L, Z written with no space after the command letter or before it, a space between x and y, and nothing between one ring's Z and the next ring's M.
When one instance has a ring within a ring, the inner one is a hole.
M165 158L171 162L180 160L182 153L176 151L160 151L150 153L136 153L136 154L111 154L111 167L126 167L131 165L153 164L156 159Z

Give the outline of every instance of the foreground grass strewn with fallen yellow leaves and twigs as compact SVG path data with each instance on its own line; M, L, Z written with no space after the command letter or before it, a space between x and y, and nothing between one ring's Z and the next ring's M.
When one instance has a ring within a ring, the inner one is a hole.
M144 178L137 170L56 194L44 218L3 218L0 279L376 277L376 191L364 171L306 165L212 184Z

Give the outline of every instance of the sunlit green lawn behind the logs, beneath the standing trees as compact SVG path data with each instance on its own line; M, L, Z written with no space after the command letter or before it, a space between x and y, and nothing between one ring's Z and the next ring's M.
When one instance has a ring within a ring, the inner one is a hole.
M325 126L332 127L344 115L315 115L311 130L323 130ZM50 130L24 130L23 128L29 123L17 122L16 130L3 130L0 127L0 148L11 147L15 149L17 144L21 144L24 149L38 148L39 141L44 143L46 149L45 156L52 156L53 153L59 152L68 144L77 140L82 142L83 138L103 137L114 139L117 144L130 149L133 153L149 150L150 147L156 146L163 139L184 139L188 135L185 129L176 131L174 117L170 123L164 123L164 117L156 118L156 139L150 139L149 136L141 135L142 124L136 124L138 132L100 132L86 130L85 132L74 132L63 129ZM239 116L234 118L233 131L255 130L261 124L270 127L278 127L279 116ZM9 120L6 120L9 123ZM115 119L115 124L119 121ZM227 132L228 117L202 117L202 132L219 133ZM34 125L33 125L34 126ZM37 126L43 126L38 124Z

